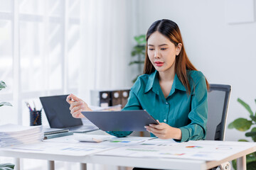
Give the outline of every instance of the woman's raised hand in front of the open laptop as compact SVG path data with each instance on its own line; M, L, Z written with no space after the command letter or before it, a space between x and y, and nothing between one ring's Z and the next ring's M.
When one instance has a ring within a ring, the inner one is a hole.
M82 101L82 99L78 98L77 96L70 94L66 101L70 103L70 113L73 116L73 118L85 118L84 115L82 115L81 111L92 111L87 106L87 103L85 101Z

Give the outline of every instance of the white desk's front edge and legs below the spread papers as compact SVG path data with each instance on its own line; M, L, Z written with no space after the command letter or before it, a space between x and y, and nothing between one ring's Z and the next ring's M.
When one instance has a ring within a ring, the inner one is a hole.
M114 157L114 156L101 156L101 155L87 155L87 156L68 156L61 154L43 154L38 152L22 152L0 149L0 156L3 157L16 157L26 159L44 159L49 162L49 169L54 169L54 161L63 162L80 162L82 169L86 169L86 164L110 164L116 166L136 166L153 169L210 169L215 166L228 162L233 159L238 159L238 169L245 170L246 162L245 155L256 151L256 143L250 143L250 148L236 152L230 157L222 159L218 162L192 159L174 159L174 158L137 158L137 157Z

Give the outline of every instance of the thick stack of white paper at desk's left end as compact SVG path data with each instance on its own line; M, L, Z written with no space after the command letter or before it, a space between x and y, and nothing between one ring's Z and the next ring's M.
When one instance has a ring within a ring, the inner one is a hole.
M0 125L0 147L41 141L42 129L42 126Z

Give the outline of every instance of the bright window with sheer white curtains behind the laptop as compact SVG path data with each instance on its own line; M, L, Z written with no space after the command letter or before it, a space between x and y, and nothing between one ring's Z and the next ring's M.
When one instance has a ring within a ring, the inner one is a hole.
M0 108L0 124L29 125L24 101L41 109L39 96L78 91L80 0L0 4L0 100L14 105Z

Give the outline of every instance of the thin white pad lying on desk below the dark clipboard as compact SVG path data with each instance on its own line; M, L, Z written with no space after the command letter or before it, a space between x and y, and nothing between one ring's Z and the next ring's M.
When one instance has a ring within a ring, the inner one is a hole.
M113 136L109 135L82 135L75 137L75 140L78 140L80 142L103 142L106 140L111 140L113 138Z

